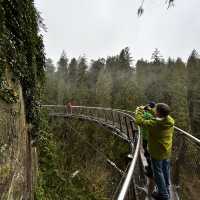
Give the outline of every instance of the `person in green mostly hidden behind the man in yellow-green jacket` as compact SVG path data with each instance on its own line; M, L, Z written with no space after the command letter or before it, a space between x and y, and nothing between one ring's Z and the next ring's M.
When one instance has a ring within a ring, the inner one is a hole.
M145 120L152 119L154 117L154 108L156 104L155 102L149 102L145 107L144 107L144 112L143 112L143 118ZM149 178L153 178L153 172L152 172L152 167L151 167L151 157L148 151L148 128L145 126L141 126L141 134L142 134L142 145L144 149L144 156L147 160L147 166L145 167L146 169L146 175Z

